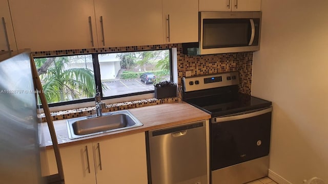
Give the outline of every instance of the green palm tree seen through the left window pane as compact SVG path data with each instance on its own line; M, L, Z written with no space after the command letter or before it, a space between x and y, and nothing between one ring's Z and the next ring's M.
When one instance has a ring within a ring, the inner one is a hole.
M37 68L48 64L39 75L48 103L91 98L95 94L95 79L89 68L69 68L71 58L54 57L34 59ZM49 63L52 62L52 63Z

